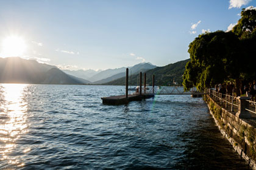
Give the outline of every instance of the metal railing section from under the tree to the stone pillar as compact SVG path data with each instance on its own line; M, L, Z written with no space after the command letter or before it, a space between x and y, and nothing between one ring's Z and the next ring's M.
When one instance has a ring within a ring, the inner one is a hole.
M207 90L207 94L210 95L210 97L212 97L214 101L219 102L221 106L226 107L226 109L230 107L231 112L234 111L234 107L236 107L236 109L238 110L239 100L237 97L227 94L221 94L212 89Z

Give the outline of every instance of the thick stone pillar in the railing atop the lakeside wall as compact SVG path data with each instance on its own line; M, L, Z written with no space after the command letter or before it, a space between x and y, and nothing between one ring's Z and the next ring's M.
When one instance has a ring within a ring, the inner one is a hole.
M238 112L235 114L239 118L251 118L251 114L246 110L249 109L249 97L238 97L239 105Z

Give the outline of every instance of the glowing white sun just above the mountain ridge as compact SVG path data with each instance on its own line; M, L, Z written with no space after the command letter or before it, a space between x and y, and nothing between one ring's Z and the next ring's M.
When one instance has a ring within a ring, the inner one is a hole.
M22 37L8 36L2 40L1 57L22 56L26 48L26 43Z

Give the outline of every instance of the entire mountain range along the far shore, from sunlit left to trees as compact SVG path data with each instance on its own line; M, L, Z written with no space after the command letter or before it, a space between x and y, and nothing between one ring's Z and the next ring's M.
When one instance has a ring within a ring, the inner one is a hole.
M146 72L147 84L170 86L175 81L182 83L185 64L189 60L179 61L167 66L157 67L151 63L140 63L129 68L129 84L137 85L138 73ZM124 85L126 67L107 70L60 70L56 66L41 64L35 60L24 60L19 57L0 58L0 83L28 84L108 84Z

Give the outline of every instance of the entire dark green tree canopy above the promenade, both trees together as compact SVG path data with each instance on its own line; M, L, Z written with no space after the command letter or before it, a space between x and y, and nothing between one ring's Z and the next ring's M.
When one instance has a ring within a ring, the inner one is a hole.
M256 78L256 10L243 9L230 32L199 35L190 43L190 59L183 74L185 90L202 90L227 80Z

